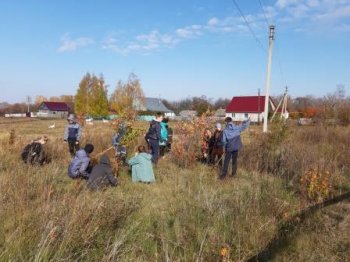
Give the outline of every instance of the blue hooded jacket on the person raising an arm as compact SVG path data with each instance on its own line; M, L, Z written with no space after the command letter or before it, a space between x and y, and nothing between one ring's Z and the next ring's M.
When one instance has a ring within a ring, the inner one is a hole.
M250 125L250 119L243 121L240 125L233 122L226 124L222 134L222 143L227 152L238 151L242 147L241 132Z

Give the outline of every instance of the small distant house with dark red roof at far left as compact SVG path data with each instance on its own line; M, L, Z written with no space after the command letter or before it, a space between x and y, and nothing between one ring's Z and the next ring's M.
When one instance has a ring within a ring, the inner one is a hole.
M69 106L65 102L44 101L38 107L37 117L67 118Z

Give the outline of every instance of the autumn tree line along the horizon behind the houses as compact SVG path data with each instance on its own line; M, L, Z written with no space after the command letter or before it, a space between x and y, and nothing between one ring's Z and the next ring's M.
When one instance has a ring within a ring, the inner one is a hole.
M234 96L235 94L232 94ZM207 111L216 111L219 108L226 108L231 97L208 98L205 95L187 97L178 101L162 99L164 105L175 114L182 110L194 110L197 115L202 115ZM273 97L276 103L282 96ZM131 73L126 82L118 81L113 92L108 95L108 85L105 83L103 75L96 76L86 73L81 79L76 94L61 95L54 97L36 96L34 103L30 103L30 111L35 112L43 101L56 101L67 103L71 111L80 116L105 117L110 113L122 116L133 117L137 108L144 104L145 94L141 81L137 75ZM25 113L28 111L27 103L9 104L0 103L0 116L5 113ZM350 123L350 98L346 97L345 86L338 85L333 93L323 97L315 96L288 96L288 111L291 118L315 118L334 119L341 123Z

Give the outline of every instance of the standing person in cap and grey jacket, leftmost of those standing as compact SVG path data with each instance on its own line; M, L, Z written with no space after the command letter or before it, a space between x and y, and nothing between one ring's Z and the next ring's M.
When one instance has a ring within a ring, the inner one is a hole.
M74 157L79 150L79 140L81 136L80 125L76 122L74 114L70 114L67 118L68 124L64 129L64 141L68 142L69 153Z

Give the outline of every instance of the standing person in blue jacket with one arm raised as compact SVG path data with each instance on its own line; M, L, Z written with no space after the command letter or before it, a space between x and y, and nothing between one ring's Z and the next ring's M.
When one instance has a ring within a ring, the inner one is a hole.
M250 125L250 118L236 125L231 117L225 118L226 127L222 133L222 143L225 149L224 165L221 169L219 179L224 179L227 174L228 165L232 159L232 176L237 173L238 151L242 147L241 132Z

